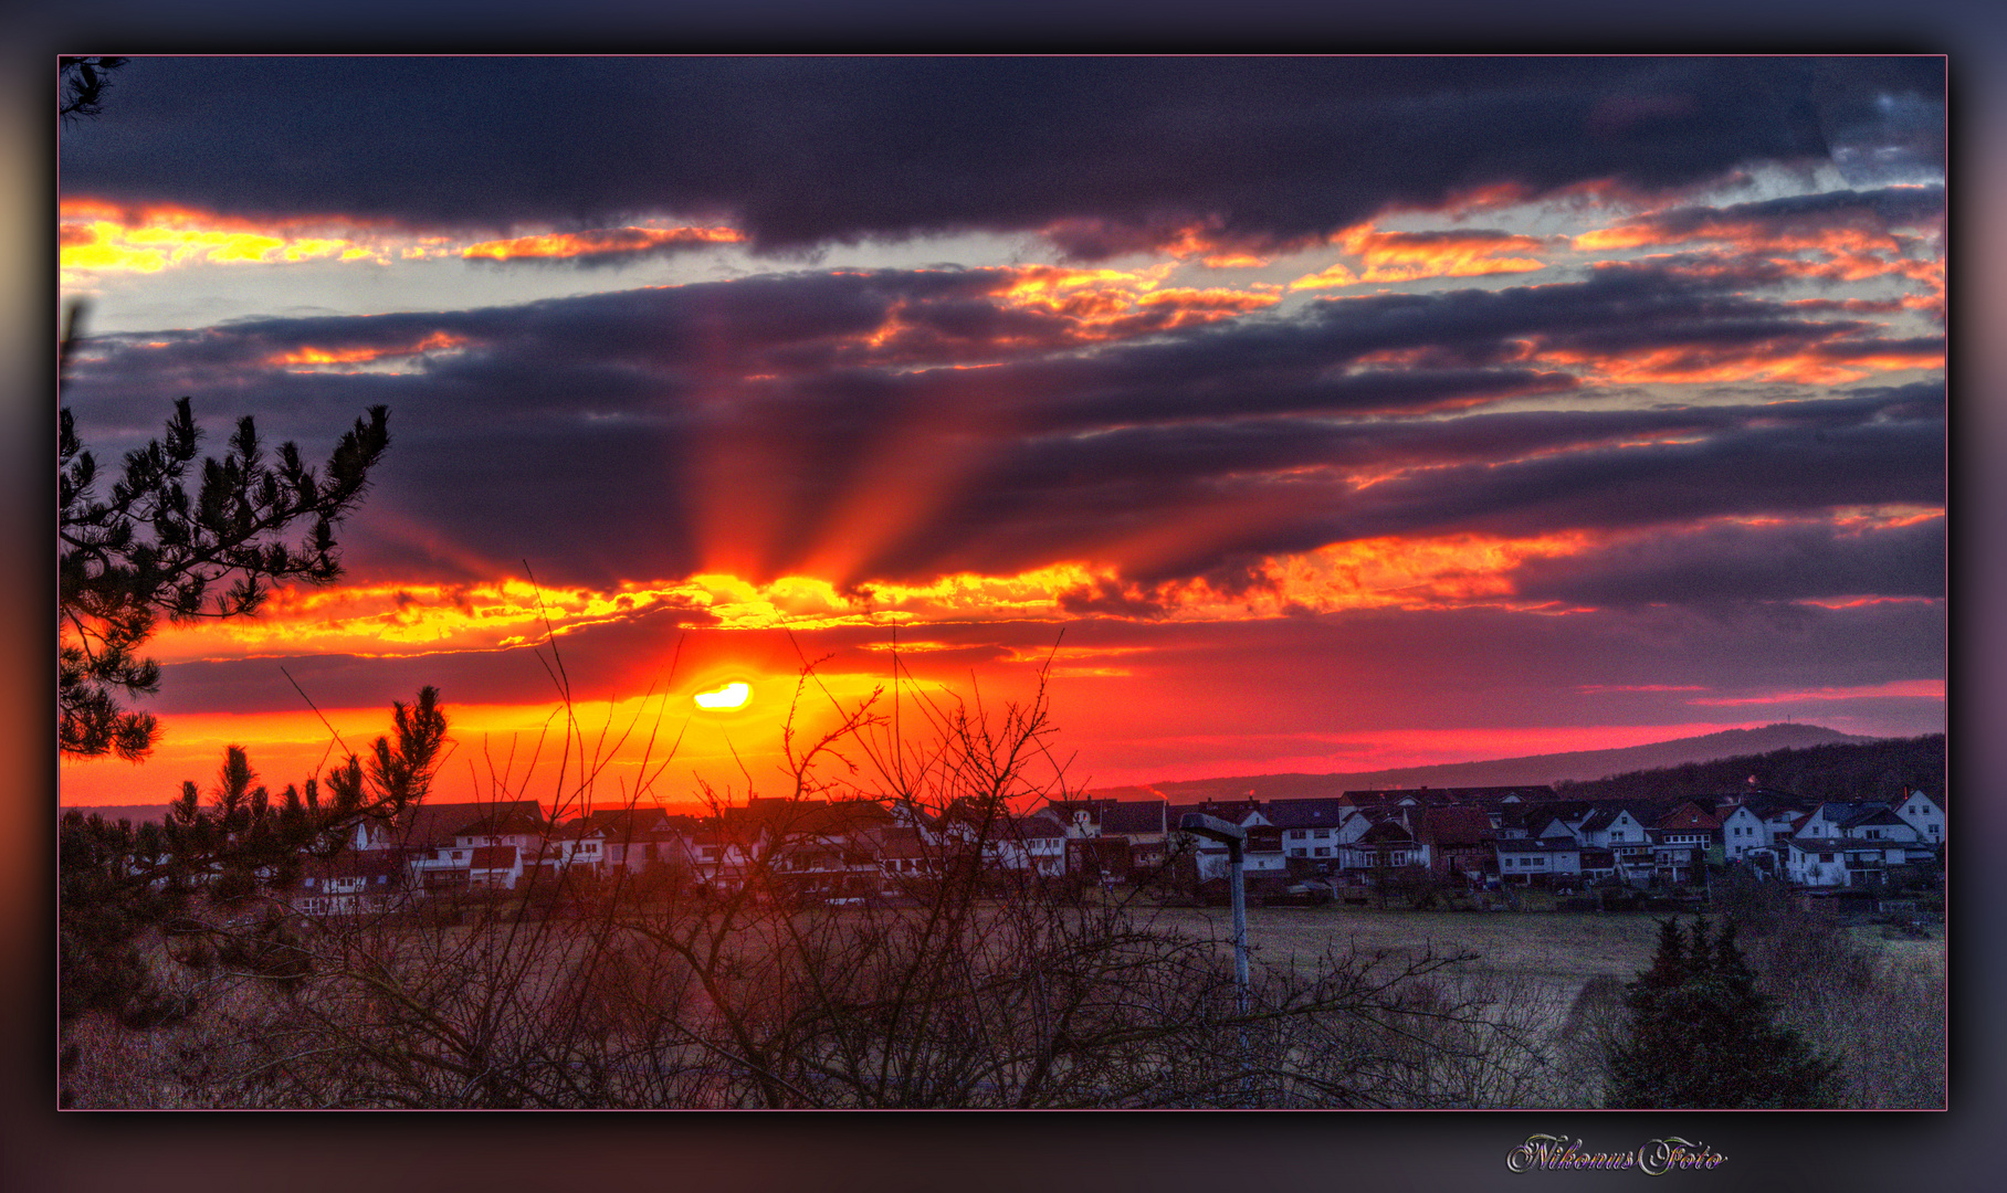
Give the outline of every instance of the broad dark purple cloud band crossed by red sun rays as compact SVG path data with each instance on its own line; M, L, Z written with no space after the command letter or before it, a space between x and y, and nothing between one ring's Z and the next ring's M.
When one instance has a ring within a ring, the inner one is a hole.
M1672 271L1327 299L1096 351L1032 335L1048 317L1026 321L1006 297L1012 277L797 273L243 321L108 341L70 401L100 449L157 433L163 395L183 387L203 393L201 415L255 413L275 439L387 403L395 447L351 559L458 553L514 569L530 557L562 581L719 565L706 551L725 533L743 545L735 567L783 573L831 547L833 517L867 495L899 507L901 525L857 545L841 583L1082 557L1156 581L1389 533L1943 501L1941 385L1682 409L1588 389L1575 369L1648 355L1844 363L1943 347ZM941 359L899 347L915 325L955 339L945 359L997 363L915 371L915 357ZM448 347L395 357L429 341ZM305 347L387 351L409 371L273 363ZM1407 363L1373 363L1389 355ZM1481 411L1541 393L1610 401ZM943 467L943 481L915 479ZM391 535L399 519L432 537ZM1176 543L1174 525L1190 527Z

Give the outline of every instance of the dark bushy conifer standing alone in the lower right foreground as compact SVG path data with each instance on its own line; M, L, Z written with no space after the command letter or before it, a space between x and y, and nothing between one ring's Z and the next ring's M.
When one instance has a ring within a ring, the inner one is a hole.
M1652 964L1626 986L1628 1025L1604 1051L1614 1109L1822 1107L1838 1061L1776 1021L1736 946L1734 924L1680 932L1660 920Z

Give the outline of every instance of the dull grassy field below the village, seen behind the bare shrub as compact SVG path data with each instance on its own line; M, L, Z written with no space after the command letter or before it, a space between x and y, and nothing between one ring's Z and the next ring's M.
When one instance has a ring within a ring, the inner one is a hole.
M1086 922L1082 916L1096 914L1092 908L1048 910L1058 916L1058 922L1076 926ZM1230 936L1226 908L1130 904L1130 910L1136 926L1146 934L1210 938L1224 960ZM955 956L995 974L1010 974L1014 966L1024 964L1024 938L1008 930L1010 912L1012 904L987 900L979 904L981 926L975 930L973 950ZM723 978L729 984L753 982L747 990L771 995L781 988L775 984L777 978L787 984L789 972L829 976L819 968L799 970L799 964L793 968L783 964L771 972L765 968L769 954L785 954L787 940L813 934L817 924L835 926L841 934L865 930L871 924L885 928L915 918L923 920L925 912L921 908L815 908L755 918L747 930L729 936L719 972L737 974ZM1465 1095L1435 1093L1451 1099L1445 1105L1559 1107L1598 1105L1598 1025L1616 1007L1616 984L1630 980L1650 962L1658 934L1656 920L1658 916L1648 912L1445 912L1327 904L1319 908L1248 908L1248 936L1256 966L1295 970L1297 978L1303 980L1317 978L1317 960L1327 952L1339 958L1353 952L1367 958L1383 956L1385 964L1375 966L1375 972L1381 974L1397 974L1405 962L1425 954L1475 954L1451 970L1425 978L1421 988L1433 988L1451 1001L1465 999L1465 1005L1477 1009L1487 1021L1517 1025L1523 1033L1521 1039L1539 1057L1535 1073L1547 1073L1547 1079L1537 1089L1473 1087ZM714 916L698 912L690 926L702 930L706 922L716 926ZM1844 980L1838 984L1830 980L1836 974L1844 976L1844 970L1828 970L1824 974L1828 980L1818 982L1810 966L1786 964L1792 974L1788 1003L1796 1009L1794 1015L1800 1019L1802 1031L1838 1047L1848 1071L1860 1075L1858 1089L1848 1095L1848 1105L1943 1105L1939 1061L1943 1057L1943 1025L1927 1011L1943 1007L1943 942L1885 940L1881 928L1873 924L1846 928L1844 934L1862 946L1862 954L1887 962L1887 976L1877 978L1871 988L1852 988ZM446 926L399 920L329 922L325 934L309 928L305 940L319 956L317 968L335 966L367 974L377 972L375 966L383 964L387 968L381 972L403 974L403 988L425 1007L436 1007L440 1023L490 1025L500 1029L498 1035L490 1033L496 1039L514 1039L512 1033L520 1029L520 1051L540 1065L544 1061L536 1049L556 1031L554 1025L576 1017L580 1009L586 1009L588 1019L604 1017L608 1009L620 1011L624 1005L618 999L626 995L642 999L642 1005L630 1009L642 1011L642 1019L634 1023L648 1021L646 1009L652 1007L662 1011L666 1017L662 1023L674 1025L676 1031L702 1035L704 1027L719 1017L719 1003L712 1003L702 990L690 988L662 1003L658 995L666 995L666 986L656 992L646 980L634 984L632 978L622 976L630 972L628 962L646 970L650 956L654 956L652 948L624 934L612 940L600 938L590 918L556 916L524 924L498 918ZM612 948L604 956L614 964L612 970L606 970L614 982L590 986L590 990L600 992L570 992L574 968L602 946ZM161 960L165 962L165 958ZM915 972L931 972L933 968L929 962ZM670 964L664 972L682 972L682 966ZM1903 976L1905 972L1909 976ZM1584 999L1584 986L1594 978L1606 980L1596 982L1592 997ZM375 1029L365 1027L393 1009L367 992L361 992L361 1001L351 1001L359 990L361 986L355 982L319 982L307 1001L299 1003L291 995L267 990L257 982L225 980L207 992L205 1011L187 1025L155 1033L116 1031L106 1023L80 1025L74 1041L82 1049L82 1063L72 1081L78 1105L321 1105L313 1101L323 1097L321 1085L309 1083L291 1089L291 1093L279 1093L255 1081L259 1067L269 1063L273 1055L271 1047L257 1045L259 1039L297 1025L309 1007L333 1017L329 1019L333 1029L329 1039L339 1047L345 1047L343 1041L365 1037L377 1039L377 1043L429 1039L429 1035L411 1035L413 1029L397 1029L391 1021ZM612 995L614 1001L606 1003L606 995ZM502 1003L492 1003L496 997ZM329 999L335 1001L329 1003ZM729 999L729 1003L739 1005L737 999ZM496 1011L498 1007L500 1011ZM313 1017L305 1015L305 1019ZM606 1029L612 1029L616 1021L626 1023L614 1015L606 1021ZM1877 1027L1860 1031L1865 1021ZM755 1015L751 1023L763 1021ZM566 1039L572 1039L584 1053L564 1051L564 1063L578 1065L578 1057L618 1053L620 1049L612 1045L618 1045L622 1037L608 1035L606 1029L578 1029L574 1025L570 1029L574 1035ZM594 1049L600 1051L594 1053ZM291 1045L279 1047L279 1053L287 1051ZM259 1057L267 1057L267 1061L259 1061ZM1507 1061L1513 1061L1513 1055L1499 1053L1491 1061L1477 1063L1471 1073L1477 1077L1493 1071L1505 1073ZM690 1071L698 1073L698 1069ZM1513 1071L1517 1073L1517 1069ZM608 1073L622 1075L626 1071L614 1067ZM658 1097L644 1099L642 1105L708 1105L702 1099L704 1093L704 1089L664 1087ZM432 1101L423 1105L458 1105L456 1099L464 1097L464 1091L458 1087L432 1089L425 1097ZM1465 1101L1455 1101L1457 1097ZM365 1099L357 1105L377 1105L379 1101ZM602 1093L554 1105L620 1103L614 1095ZM727 1101L723 1105L741 1103Z

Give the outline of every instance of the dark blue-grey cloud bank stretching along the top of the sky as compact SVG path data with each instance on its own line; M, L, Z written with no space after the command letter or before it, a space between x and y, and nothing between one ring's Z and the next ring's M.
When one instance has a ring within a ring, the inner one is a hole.
M1192 227L1301 243L1507 186L1674 192L1929 144L1935 58L140 58L68 128L68 194L247 217L598 229L757 249L1040 231L1080 257ZM1862 158L1865 160L1865 158ZM1939 158L1941 162L1941 146Z

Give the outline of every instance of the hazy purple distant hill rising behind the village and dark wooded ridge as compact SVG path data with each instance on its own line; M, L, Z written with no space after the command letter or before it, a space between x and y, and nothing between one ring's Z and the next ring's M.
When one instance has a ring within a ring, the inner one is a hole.
M1092 794L1122 800L1168 798L1176 804L1190 804L1198 800L1238 800L1246 798L1248 792L1254 792L1256 800L1301 800L1365 788L1535 786L1592 782L1616 774L1662 770L1690 762L1750 758L1770 754L1774 750L1867 744L1875 740L1877 738L1858 738L1822 726L1778 724L1762 726L1760 730L1722 730L1700 738L1676 738L1672 742L1626 746L1622 750L1571 750L1567 754L1533 754L1527 758L1495 758L1489 762L1441 762L1435 766L1403 766L1395 770L1355 770L1337 774L1236 774L1224 778L1098 788ZM1740 784L1742 778L1744 776L1736 776L1730 786Z

